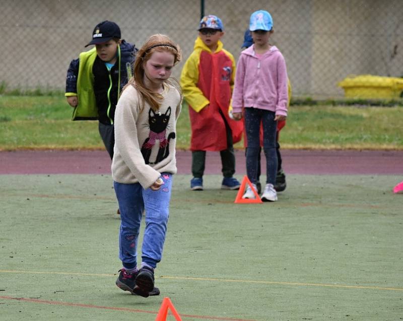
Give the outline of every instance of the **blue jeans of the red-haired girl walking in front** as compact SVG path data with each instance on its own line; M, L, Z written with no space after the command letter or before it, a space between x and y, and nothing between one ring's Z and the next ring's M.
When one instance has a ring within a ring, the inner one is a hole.
M172 174L162 173L164 184L158 191L144 189L140 183L113 182L120 210L119 259L123 267L137 266L137 245L143 211L146 211L146 228L143 236L142 262L155 268L162 259L169 217Z

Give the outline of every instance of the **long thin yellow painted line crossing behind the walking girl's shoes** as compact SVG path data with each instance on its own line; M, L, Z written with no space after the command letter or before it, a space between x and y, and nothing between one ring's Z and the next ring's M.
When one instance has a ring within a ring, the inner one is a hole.
M97 273L75 273L75 272L15 271L15 270L0 270L0 273L58 274L58 275L107 276L107 277L117 275L117 274L99 274L99 273L97 274ZM295 285L295 286L322 286L322 287L334 287L334 288L346 288L346 289L403 291L403 288L366 286L366 285L342 285L342 284L325 284L325 283L232 280L232 279L213 279L213 278L191 278L191 277L179 277L179 276L156 276L156 278L174 279L174 280L192 280L192 281L239 282L239 283L255 283L255 284Z

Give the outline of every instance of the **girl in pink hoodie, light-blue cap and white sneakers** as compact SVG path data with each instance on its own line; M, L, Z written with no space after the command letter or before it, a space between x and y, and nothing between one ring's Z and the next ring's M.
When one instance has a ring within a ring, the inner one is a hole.
M277 173L277 121L287 117L288 77L286 62L280 50L269 44L273 34L272 16L263 10L250 16L249 30L254 44L242 51L237 63L232 95L233 117L245 117L248 148L246 173L256 191L259 128L263 125L263 150L266 156L266 186L263 201L277 201L274 189ZM243 198L255 198L251 187Z

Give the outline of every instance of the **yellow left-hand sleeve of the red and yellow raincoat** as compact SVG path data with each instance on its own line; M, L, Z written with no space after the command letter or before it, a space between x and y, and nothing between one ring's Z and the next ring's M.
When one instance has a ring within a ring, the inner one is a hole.
M190 57L186 60L180 74L180 86L182 87L183 97L189 106L197 113L210 104L210 101L197 87L199 76L198 58L199 55L193 51Z

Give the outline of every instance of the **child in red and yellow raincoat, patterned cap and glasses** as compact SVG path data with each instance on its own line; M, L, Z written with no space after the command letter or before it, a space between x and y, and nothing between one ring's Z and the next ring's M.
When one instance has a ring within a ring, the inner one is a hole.
M239 189L233 177L233 143L241 140L243 124L228 115L234 87L235 60L223 48L224 27L216 16L201 19L194 50L180 77L183 97L189 105L191 122L192 190L203 190L206 151L220 151L223 181L221 188Z

